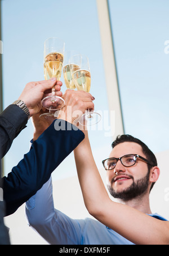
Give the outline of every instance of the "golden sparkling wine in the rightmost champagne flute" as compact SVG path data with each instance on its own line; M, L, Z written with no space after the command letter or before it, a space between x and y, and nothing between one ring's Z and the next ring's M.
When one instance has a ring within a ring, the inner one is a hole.
M77 70L73 72L72 78L78 91L90 92L91 74L88 70Z

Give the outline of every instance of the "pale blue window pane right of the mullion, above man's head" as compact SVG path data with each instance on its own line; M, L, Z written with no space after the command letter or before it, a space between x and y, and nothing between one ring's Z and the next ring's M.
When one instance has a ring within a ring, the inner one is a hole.
M167 0L109 0L125 133L168 150Z

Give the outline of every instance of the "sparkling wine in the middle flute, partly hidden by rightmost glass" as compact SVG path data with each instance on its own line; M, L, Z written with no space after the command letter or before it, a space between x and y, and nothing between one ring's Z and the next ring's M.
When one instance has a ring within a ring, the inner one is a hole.
M75 85L72 79L72 73L76 70L79 70L80 67L77 64L68 64L63 67L63 75L66 87L68 89L74 89Z

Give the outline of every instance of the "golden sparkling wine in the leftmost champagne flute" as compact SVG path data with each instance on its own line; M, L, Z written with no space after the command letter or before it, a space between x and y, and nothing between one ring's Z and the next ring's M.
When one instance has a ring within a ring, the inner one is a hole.
M60 80L64 56L61 53L50 53L45 57L44 74L45 79L57 78Z

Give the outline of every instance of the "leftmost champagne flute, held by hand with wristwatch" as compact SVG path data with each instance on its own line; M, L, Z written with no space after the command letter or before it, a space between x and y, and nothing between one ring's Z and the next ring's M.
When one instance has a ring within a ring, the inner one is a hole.
M45 80L57 78L60 80L63 68L65 43L57 37L47 39L44 44L44 75ZM63 108L65 101L55 95L55 86L52 88L52 95L42 100L43 108L50 110L48 113L41 114L41 118L55 117L55 111ZM55 110L55 111L54 111Z

